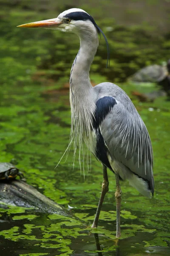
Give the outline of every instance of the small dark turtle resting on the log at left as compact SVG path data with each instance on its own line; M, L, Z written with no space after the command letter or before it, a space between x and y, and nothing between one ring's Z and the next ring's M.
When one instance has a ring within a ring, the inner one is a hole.
M11 163L0 163L0 180L13 180L16 177L20 176L20 179L26 181L22 172L19 171L17 167L15 167Z

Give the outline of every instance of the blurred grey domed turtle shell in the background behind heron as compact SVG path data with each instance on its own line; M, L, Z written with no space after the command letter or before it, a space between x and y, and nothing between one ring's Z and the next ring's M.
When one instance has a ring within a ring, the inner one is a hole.
M159 83L163 81L168 75L167 67L160 65L151 65L142 68L130 77L131 81L136 82L153 82Z

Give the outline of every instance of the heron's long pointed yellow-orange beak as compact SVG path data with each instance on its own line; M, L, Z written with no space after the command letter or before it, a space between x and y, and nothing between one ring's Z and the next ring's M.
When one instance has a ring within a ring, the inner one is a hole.
M51 28L51 27L57 27L62 23L61 20L55 18L50 20L41 20L31 23L26 23L23 25L19 25L17 27L23 27L23 28Z

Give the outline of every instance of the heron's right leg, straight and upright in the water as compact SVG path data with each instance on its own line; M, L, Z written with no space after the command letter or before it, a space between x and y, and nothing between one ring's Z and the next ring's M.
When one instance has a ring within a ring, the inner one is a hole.
M121 207L121 195L122 190L119 183L119 174L115 172L116 177L116 192L115 192L115 198L116 198L116 237L120 237L120 207Z

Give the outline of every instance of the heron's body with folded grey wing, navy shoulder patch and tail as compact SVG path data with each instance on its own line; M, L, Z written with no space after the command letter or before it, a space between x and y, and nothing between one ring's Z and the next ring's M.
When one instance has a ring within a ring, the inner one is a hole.
M98 84L93 90L98 95L94 118L96 157L113 171L117 169L120 177L128 179L142 194L153 194L153 150L139 113L115 84Z

